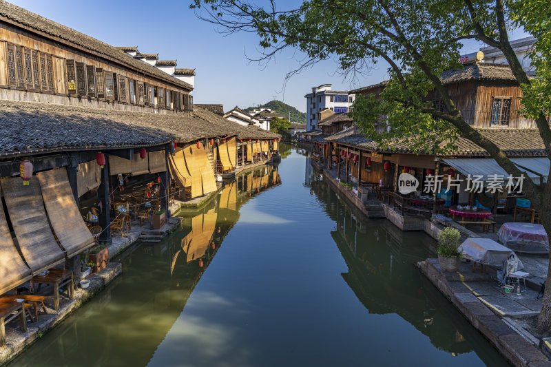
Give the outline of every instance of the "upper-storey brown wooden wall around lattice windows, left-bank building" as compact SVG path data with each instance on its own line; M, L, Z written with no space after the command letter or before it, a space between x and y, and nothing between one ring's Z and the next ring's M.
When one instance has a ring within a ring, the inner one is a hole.
M30 92L20 90L18 88L8 89L7 67L6 67L6 42L14 45L23 46L31 50L37 50L46 54L52 54L52 62L54 67L54 84L56 93L48 92ZM40 101L50 103L61 103L67 105L90 105L93 107L105 107L111 109L125 109L132 111L148 111L153 110L151 106L140 106L118 101L107 102L103 98L95 97L76 97L67 95L67 76L65 69L65 60L74 60L78 63L86 63L86 65L94 65L96 68L102 68L104 72L115 72L121 76L149 83L155 87L162 87L168 90L189 94L189 91L155 78L154 76L144 75L143 72L136 72L132 68L122 64L118 64L108 59L95 56L78 48L70 48L60 43L56 43L50 39L46 39L32 32L16 28L8 23L0 21L0 98L15 100L15 101ZM146 91L147 93L147 91ZM159 110L160 113L174 113L171 110Z

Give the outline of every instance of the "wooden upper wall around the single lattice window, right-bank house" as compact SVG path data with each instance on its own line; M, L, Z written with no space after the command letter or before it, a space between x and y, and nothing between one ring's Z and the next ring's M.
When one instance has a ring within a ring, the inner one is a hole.
M522 108L520 99L522 97L522 92L517 85L499 85L497 83L490 84L488 82L481 83L477 87L476 127L492 127L490 124L492 121L492 103L494 96L512 97L509 128L537 128L534 120L525 118L519 111Z

